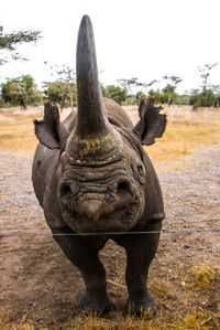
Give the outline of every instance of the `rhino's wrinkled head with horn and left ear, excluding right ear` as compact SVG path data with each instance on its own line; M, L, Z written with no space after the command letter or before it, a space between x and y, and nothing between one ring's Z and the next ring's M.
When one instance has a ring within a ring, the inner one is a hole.
M77 233L124 232L142 217L146 181L143 150L136 135L110 124L96 60L90 19L84 17L77 44L78 110L70 130L58 109L45 106L35 121L40 141L61 149L58 196L68 226ZM112 103L112 108L118 105Z

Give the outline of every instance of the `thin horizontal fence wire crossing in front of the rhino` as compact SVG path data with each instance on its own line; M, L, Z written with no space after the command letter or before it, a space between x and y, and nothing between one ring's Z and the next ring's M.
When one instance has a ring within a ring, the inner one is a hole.
M0 233L0 237L54 237L54 236L119 236L119 235L146 235L146 234L193 234L193 233L218 233L219 228L212 230L177 230L177 231L151 231L151 232L103 232L103 233L56 233L56 234L42 234L42 233Z

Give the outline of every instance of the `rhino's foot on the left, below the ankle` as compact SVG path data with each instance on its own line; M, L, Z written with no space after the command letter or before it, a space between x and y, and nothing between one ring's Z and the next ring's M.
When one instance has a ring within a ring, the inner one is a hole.
M88 315L102 316L111 310L112 304L108 296L95 297L95 295L86 294L80 300L78 306Z

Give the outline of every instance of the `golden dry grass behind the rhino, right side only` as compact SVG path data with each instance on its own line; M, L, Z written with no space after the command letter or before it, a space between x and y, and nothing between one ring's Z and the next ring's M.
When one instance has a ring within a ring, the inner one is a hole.
M135 107L128 108L133 124L138 121ZM167 115L166 130L156 143L145 147L154 161L176 160L190 155L197 146L209 146L220 142L220 110L191 107L164 108Z

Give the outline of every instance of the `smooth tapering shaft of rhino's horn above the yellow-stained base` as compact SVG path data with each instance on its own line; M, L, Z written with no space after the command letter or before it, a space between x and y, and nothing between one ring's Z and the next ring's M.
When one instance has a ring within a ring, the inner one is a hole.
M77 43L77 134L82 138L108 130L108 119L98 79L96 45L89 17L81 20Z

